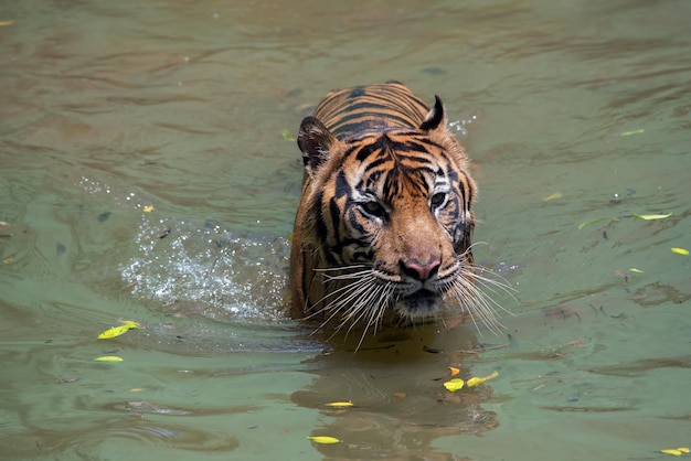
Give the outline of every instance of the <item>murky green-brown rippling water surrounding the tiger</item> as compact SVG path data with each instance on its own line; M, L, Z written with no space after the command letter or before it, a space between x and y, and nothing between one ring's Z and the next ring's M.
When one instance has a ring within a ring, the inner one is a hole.
M671 0L4 2L0 458L689 446L689 21ZM439 94L474 160L506 336L353 354L284 314L290 137L329 89L392 78ZM145 328L96 340L120 320ZM448 366L499 377L451 394Z

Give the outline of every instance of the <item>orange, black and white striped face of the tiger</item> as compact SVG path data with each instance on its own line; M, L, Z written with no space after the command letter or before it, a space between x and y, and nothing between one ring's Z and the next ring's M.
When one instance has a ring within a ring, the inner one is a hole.
M332 146L343 163L323 179L315 205L326 226L329 267L341 280L351 275L350 288L366 294L351 305L422 318L434 315L449 290L463 292L458 283L472 264L472 183L459 175L454 148L411 130ZM326 275L327 282L334 276Z

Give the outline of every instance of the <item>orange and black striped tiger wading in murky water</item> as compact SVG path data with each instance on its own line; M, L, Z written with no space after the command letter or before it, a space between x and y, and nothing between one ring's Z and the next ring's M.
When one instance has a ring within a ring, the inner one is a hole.
M471 251L477 186L438 96L429 108L397 82L331 92L297 142L294 318L366 332L450 304L493 324L493 301L474 283L487 280Z

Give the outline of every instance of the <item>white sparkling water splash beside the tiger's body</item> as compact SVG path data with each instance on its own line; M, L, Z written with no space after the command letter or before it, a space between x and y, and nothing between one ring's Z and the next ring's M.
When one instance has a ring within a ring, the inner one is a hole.
M145 215L135 245L120 271L136 298L214 319L275 323L287 318L285 237Z

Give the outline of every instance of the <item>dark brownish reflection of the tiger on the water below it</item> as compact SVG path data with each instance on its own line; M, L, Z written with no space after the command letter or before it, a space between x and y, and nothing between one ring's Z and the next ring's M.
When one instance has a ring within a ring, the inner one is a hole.
M469 364L481 346L468 331L446 331L428 325L415 331L382 334L378 340L339 337L340 347L309 361L317 379L297 390L291 399L301 407L329 417L315 436L338 435L347 441L319 446L320 451L344 459L408 459L421 453L446 459L436 452L435 439L444 436L483 435L499 425L495 411L482 407L491 399L488 386L449 393L449 367L469 376ZM358 353L353 351L359 346ZM477 368L477 373L491 369ZM353 407L332 408L329 403L349 401Z

